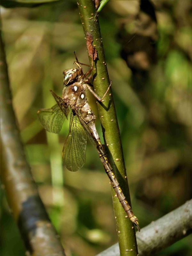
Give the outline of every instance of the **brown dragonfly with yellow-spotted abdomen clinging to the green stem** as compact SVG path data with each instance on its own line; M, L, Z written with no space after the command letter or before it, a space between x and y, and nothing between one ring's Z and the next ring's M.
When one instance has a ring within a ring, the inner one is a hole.
M88 89L98 101L104 101L111 83L103 97L100 98L92 89L90 82L92 78L90 73L93 69L93 56L92 65L85 74L83 73L81 66L89 65L79 62L77 57L74 63L77 68L71 68L63 71L64 88L62 96L60 97L50 90L56 104L52 108L43 108L38 110L37 114L39 120L44 129L48 132L59 133L63 122L68 118L70 109L72 110L70 115L69 133L62 150L64 165L71 172L76 172L78 169L83 167L85 163L87 138L89 138L97 149L101 163L103 164L105 172L110 180L110 184L115 190L116 197L118 197L119 202L127 214L126 218L128 217L140 231L138 219L133 214L132 208L127 202L113 169L109 164L104 145L102 145L95 127L96 116L94 115L86 98L86 89Z

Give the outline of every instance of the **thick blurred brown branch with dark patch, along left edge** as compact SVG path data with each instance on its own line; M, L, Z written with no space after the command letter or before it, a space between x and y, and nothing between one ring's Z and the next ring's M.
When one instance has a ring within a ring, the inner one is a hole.
M64 256L64 249L38 195L30 166L24 155L12 108L2 39L0 66L1 156L3 166L1 178L14 219L30 254L34 256Z

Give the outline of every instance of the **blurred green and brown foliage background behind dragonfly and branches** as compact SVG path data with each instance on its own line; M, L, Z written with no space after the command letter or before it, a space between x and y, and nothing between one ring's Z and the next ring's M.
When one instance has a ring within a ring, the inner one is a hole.
M116 105L132 208L140 227L192 196L192 16L190 0L109 1L99 15ZM68 134L45 132L37 110L61 96L74 51L88 63L76 1L1 8L13 106L40 196L67 255L93 256L117 242L111 189L97 151L87 145L78 172L63 168ZM86 70L86 68L84 69ZM95 99L89 102L98 116ZM97 128L102 136L99 120ZM1 187L3 256L25 248ZM191 237L158 255L191 255Z

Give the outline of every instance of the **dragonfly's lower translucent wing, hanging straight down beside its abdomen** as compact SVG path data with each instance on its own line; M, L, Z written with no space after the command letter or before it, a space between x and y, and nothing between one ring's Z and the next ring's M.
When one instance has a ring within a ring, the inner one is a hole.
M65 141L62 157L66 168L76 172L85 163L87 134L73 112L70 117L69 134Z

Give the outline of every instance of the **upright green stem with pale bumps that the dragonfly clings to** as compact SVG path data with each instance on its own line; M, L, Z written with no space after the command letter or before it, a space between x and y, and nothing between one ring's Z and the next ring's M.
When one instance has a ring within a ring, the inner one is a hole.
M107 65L105 62L98 16L95 16L96 10L92 0L78 0L77 4L79 7L82 26L84 29L84 36L86 37L87 32L92 34L92 45L98 52L98 59L95 61L94 68L92 71L92 77L94 90L102 98L110 84L110 81L108 77ZM115 85L112 84L112 86ZM129 187L126 178L122 144L111 90L109 90L108 94L106 95L104 102L98 102L98 110L104 141L107 145L106 151L109 162L123 190L123 193L126 196L127 201L131 205ZM122 208L118 199L115 197L113 189L112 196L114 212L116 217L116 227L120 253L123 256L137 255L138 250L135 230L134 228L132 228L133 223L129 219L125 218L126 213L124 212L124 209Z

